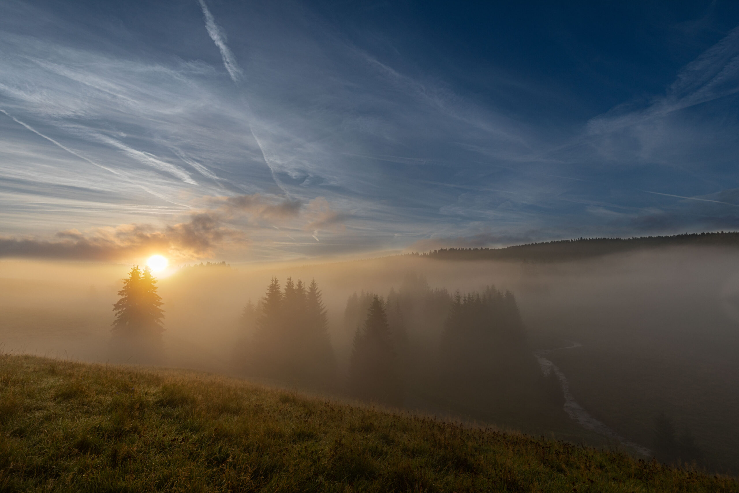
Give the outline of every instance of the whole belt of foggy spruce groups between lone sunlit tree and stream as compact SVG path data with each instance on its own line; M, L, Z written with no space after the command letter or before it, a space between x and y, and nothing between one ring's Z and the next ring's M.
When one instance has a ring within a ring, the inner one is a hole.
M514 294L487 286L449 293L408 273L386 296L348 296L342 330L353 334L347 373L337 372L316 282L277 279L242 311L234 363L245 375L344 390L395 407L431 401L542 422L562 406L559 383L539 370Z

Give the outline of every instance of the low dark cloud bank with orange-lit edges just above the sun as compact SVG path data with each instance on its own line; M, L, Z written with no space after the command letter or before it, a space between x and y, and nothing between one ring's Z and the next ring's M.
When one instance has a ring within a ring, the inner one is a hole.
M186 221L163 227L124 224L60 231L51 239L0 237L0 257L120 261L164 254L175 261L191 260L248 245L246 232L233 226L244 218L247 228L263 228L261 231L285 223L296 230L337 231L344 228L346 217L333 210L323 197L305 207L298 200L274 200L259 194L205 197L205 202L211 207L191 214Z

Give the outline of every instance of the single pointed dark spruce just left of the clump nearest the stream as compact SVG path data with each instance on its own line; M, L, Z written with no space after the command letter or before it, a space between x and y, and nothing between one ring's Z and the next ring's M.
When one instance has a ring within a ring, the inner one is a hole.
M350 361L350 387L364 400L401 406L403 387L383 305L375 296L364 327L357 329Z

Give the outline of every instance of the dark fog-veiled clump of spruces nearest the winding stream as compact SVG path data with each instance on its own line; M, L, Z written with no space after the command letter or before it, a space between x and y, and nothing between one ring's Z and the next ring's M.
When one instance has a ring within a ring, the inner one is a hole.
M555 375L545 377L539 368L508 290L455 293L439 356L439 387L454 402L539 422L563 404Z

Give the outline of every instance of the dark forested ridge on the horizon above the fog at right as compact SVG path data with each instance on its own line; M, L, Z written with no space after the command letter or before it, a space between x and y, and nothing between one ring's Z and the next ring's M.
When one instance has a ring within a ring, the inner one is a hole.
M563 262L608 254L672 246L739 247L739 232L676 234L667 237L579 238L528 243L505 248L440 248L409 254L441 260L517 260Z

